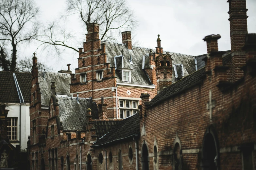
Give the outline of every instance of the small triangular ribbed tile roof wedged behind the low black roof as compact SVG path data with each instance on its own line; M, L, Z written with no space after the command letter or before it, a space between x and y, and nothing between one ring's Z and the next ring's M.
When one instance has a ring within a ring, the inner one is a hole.
M95 135L97 138L101 138L108 133L112 128L119 124L122 119L107 119L107 120L93 120L94 127L96 128Z

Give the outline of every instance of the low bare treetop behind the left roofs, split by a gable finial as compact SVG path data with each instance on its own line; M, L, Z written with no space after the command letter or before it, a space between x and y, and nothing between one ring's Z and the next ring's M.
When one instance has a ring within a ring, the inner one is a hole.
M19 72L31 72L32 71L32 58L25 57L24 59L19 59L17 63L17 71ZM52 72L53 68L46 66L41 62L37 62L38 71Z

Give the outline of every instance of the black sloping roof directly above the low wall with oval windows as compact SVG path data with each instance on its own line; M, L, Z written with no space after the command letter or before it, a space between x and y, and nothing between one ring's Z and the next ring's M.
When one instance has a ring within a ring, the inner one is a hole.
M134 135L140 135L140 113L136 113L116 125L106 135L96 141L92 147L97 147L121 139L127 139Z

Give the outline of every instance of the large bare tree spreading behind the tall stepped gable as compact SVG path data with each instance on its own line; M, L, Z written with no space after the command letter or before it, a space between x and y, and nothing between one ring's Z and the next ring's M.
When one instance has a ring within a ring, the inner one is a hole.
M132 30L137 26L126 0L67 0L67 7L67 15L62 19L77 15L85 27L88 23L98 23L101 40L116 40L121 29ZM79 43L74 40L74 34L58 25L58 22L49 24L37 40L44 47L54 46L58 54L60 46L78 52Z

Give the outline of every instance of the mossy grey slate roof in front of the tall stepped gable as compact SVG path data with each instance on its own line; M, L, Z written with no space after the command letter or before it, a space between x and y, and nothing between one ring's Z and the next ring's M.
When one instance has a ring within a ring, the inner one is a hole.
M63 130L86 130L87 109L92 110L92 119L98 119L96 103L89 98L57 97L59 117Z

